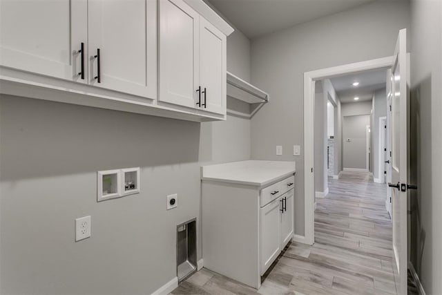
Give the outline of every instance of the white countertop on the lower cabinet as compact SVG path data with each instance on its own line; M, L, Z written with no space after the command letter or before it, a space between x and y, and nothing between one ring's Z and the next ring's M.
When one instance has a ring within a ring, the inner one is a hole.
M295 171L295 162L248 160L202 166L201 179L264 187Z

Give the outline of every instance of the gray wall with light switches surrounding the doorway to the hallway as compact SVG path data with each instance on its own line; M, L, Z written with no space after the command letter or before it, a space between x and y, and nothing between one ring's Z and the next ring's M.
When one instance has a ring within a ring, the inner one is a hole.
M303 146L304 72L391 56L398 30L407 27L407 1L375 1L253 39L251 81L271 102L252 119L252 158L296 160L296 234L304 234L304 151L277 157L275 146Z

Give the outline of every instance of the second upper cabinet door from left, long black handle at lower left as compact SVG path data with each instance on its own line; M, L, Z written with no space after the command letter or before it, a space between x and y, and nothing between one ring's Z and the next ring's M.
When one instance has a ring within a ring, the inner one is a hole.
M155 0L88 0L89 83L156 99Z

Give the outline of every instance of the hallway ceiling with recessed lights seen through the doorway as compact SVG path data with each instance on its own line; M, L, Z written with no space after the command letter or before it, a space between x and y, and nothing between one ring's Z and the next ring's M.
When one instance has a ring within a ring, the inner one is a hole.
M340 102L345 104L372 100L374 91L385 88L386 79L387 70L384 68L333 77L330 81ZM353 82L359 82L359 85L353 86ZM359 99L355 101L354 97Z

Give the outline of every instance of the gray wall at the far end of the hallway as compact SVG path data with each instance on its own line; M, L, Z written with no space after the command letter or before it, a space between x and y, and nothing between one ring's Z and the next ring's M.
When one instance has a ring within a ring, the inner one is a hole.
M369 115L349 115L343 120L343 153L344 169L368 169L367 167L367 125L370 124ZM351 141L347 142L347 138Z

